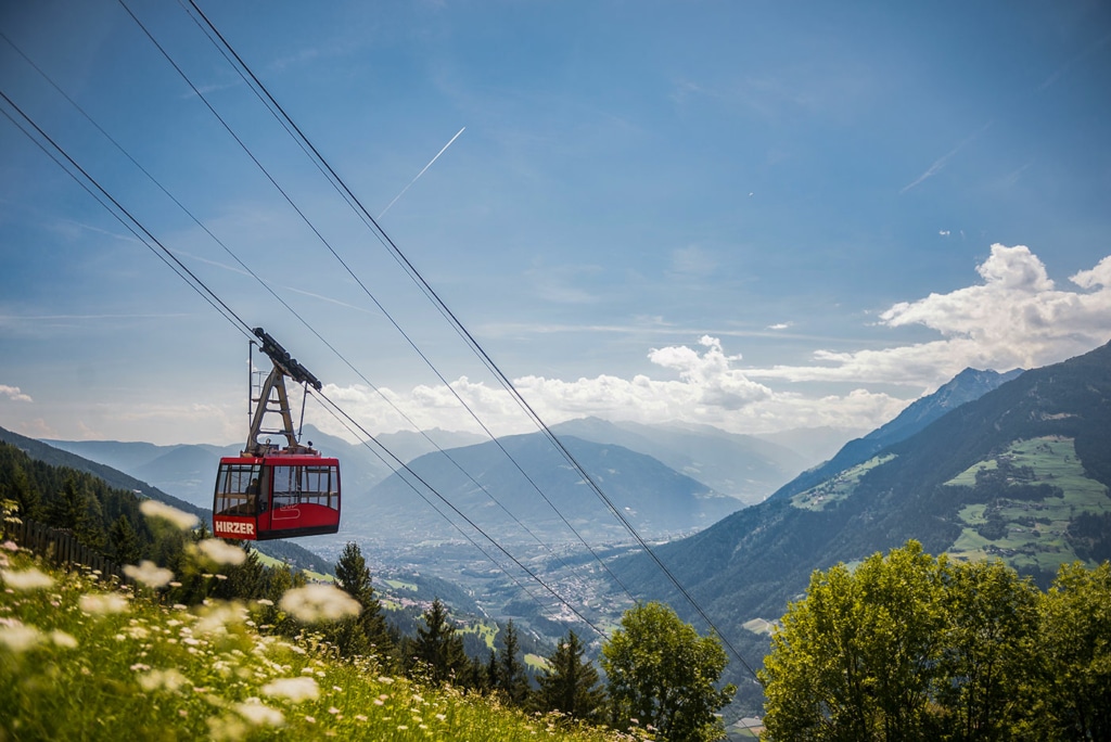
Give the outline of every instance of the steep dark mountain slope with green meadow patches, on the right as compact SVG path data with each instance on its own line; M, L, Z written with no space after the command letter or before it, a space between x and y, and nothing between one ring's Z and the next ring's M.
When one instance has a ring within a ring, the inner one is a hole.
M813 570L909 539L930 553L1001 558L1042 585L1064 562L1111 552L1111 344L1022 372L863 461L859 445L834 457L845 464L820 468L820 481L808 472L657 549L727 635L749 643L745 628L765 629L759 620L781 615ZM621 573L687 610L647 558Z

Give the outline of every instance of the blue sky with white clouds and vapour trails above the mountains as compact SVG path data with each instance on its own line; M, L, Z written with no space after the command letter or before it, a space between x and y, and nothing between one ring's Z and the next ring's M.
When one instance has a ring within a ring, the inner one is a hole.
M1105 3L198 4L549 422L870 429L1111 339ZM4 3L0 89L369 430L528 429L190 14L128 7L196 90L116 0ZM242 438L243 337L8 118L0 173L0 425Z

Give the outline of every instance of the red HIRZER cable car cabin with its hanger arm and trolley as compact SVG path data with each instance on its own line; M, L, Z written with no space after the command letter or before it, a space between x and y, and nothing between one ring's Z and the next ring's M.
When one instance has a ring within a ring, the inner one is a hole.
M250 401L254 403L247 445L239 457L220 459L212 502L212 530L223 539L267 540L336 533L340 527L340 462L298 442L293 432L286 378L320 390L321 383L290 358L262 328L254 328L259 347L273 362L273 370ZM251 341L251 345L254 341ZM263 429L263 420L277 414L281 429ZM304 402L301 403L304 415ZM282 434L286 447L260 435Z

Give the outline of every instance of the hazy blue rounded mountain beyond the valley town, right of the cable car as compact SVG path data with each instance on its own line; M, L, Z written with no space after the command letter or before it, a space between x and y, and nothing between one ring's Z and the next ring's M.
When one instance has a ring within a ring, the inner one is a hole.
M649 455L571 435L560 440L648 538L705 528L741 507ZM460 530L473 532L463 517L503 544L569 543L575 533L591 543L629 538L541 433L427 453L409 470L346 501L340 538L406 544L461 540Z

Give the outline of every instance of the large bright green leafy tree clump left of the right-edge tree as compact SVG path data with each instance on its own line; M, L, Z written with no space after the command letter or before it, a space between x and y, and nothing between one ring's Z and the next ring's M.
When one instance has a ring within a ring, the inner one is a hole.
M1001 562L952 563L914 541L815 571L759 673L765 739L1025 735L1040 600Z

